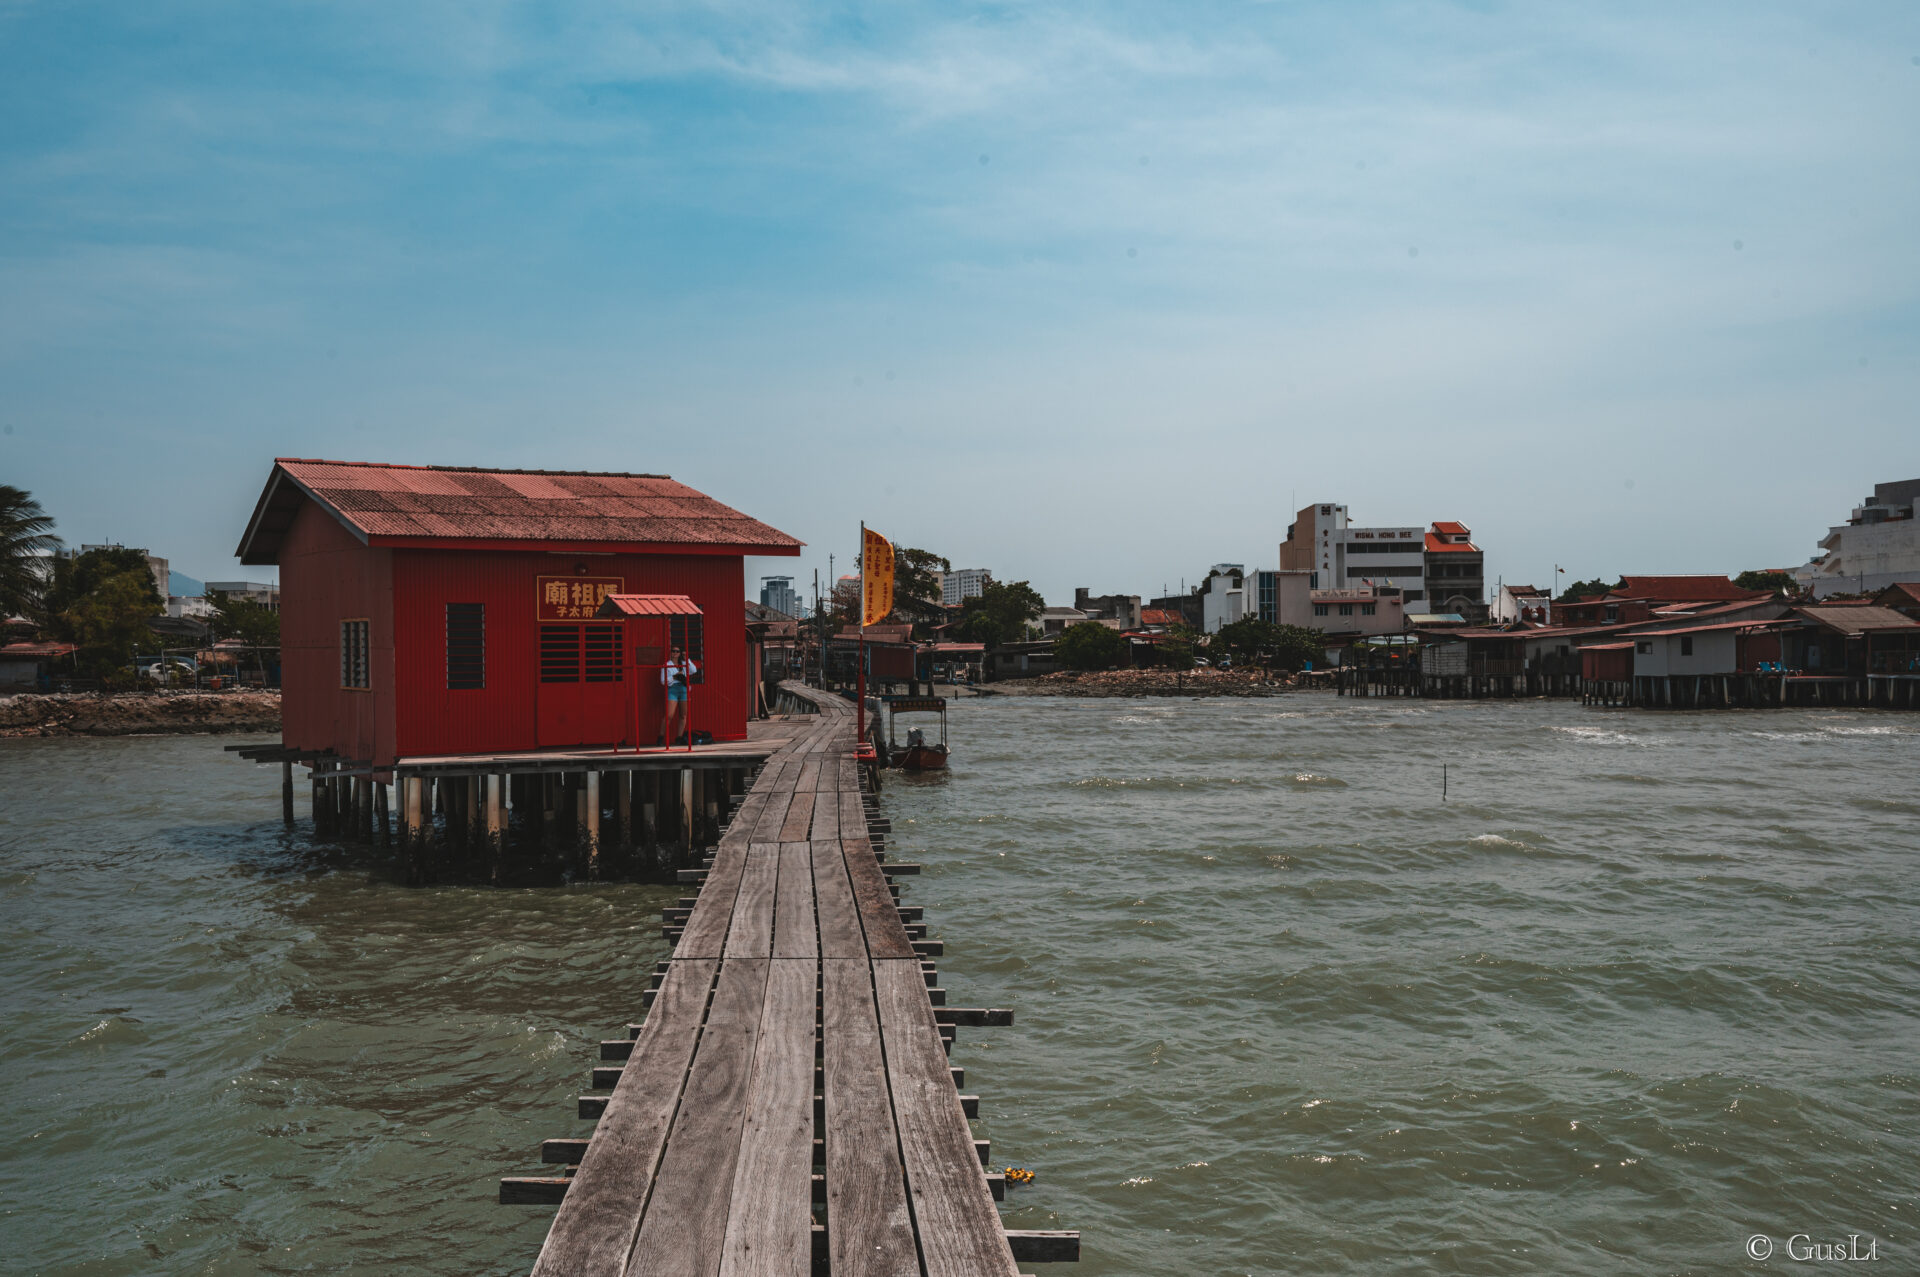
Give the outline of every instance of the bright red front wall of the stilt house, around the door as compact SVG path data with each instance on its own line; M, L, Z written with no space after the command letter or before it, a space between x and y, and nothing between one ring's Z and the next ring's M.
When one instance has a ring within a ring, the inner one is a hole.
M745 565L737 555L549 555L461 549L396 549L399 757L499 753L540 747L540 576L622 578L626 593L684 593L705 613L705 684L693 689L693 728L714 739L747 735ZM447 689L445 605L486 605L486 687ZM651 630L649 630L651 634ZM630 636L626 645L632 647ZM647 728L657 737L660 691L645 674ZM632 699L630 684L593 686ZM620 714L618 722L626 722ZM620 741L589 741L614 745ZM626 741L632 743L632 741Z

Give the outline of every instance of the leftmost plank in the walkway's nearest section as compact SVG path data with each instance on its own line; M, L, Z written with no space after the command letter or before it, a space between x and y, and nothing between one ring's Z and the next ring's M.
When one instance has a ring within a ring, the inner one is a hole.
M674 962L534 1264L534 1277L626 1267L720 964Z

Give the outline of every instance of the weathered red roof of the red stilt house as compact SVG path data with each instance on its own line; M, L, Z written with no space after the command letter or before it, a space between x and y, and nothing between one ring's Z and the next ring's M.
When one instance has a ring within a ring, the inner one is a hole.
M664 474L280 457L240 540L240 561L275 563L305 501L369 545L801 553L799 540Z

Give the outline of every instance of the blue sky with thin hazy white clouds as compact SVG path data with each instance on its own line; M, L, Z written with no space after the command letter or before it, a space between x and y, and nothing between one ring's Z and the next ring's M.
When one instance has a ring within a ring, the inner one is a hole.
M666 472L1154 595L1544 584L1920 476L1920 6L0 0L0 482L257 578L275 455Z

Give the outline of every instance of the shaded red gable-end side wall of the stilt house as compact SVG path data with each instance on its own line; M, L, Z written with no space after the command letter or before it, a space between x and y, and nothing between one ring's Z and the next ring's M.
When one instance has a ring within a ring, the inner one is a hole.
M394 760L394 551L369 549L305 505L280 545L280 739L342 759ZM365 616L371 691L340 687L340 622Z

